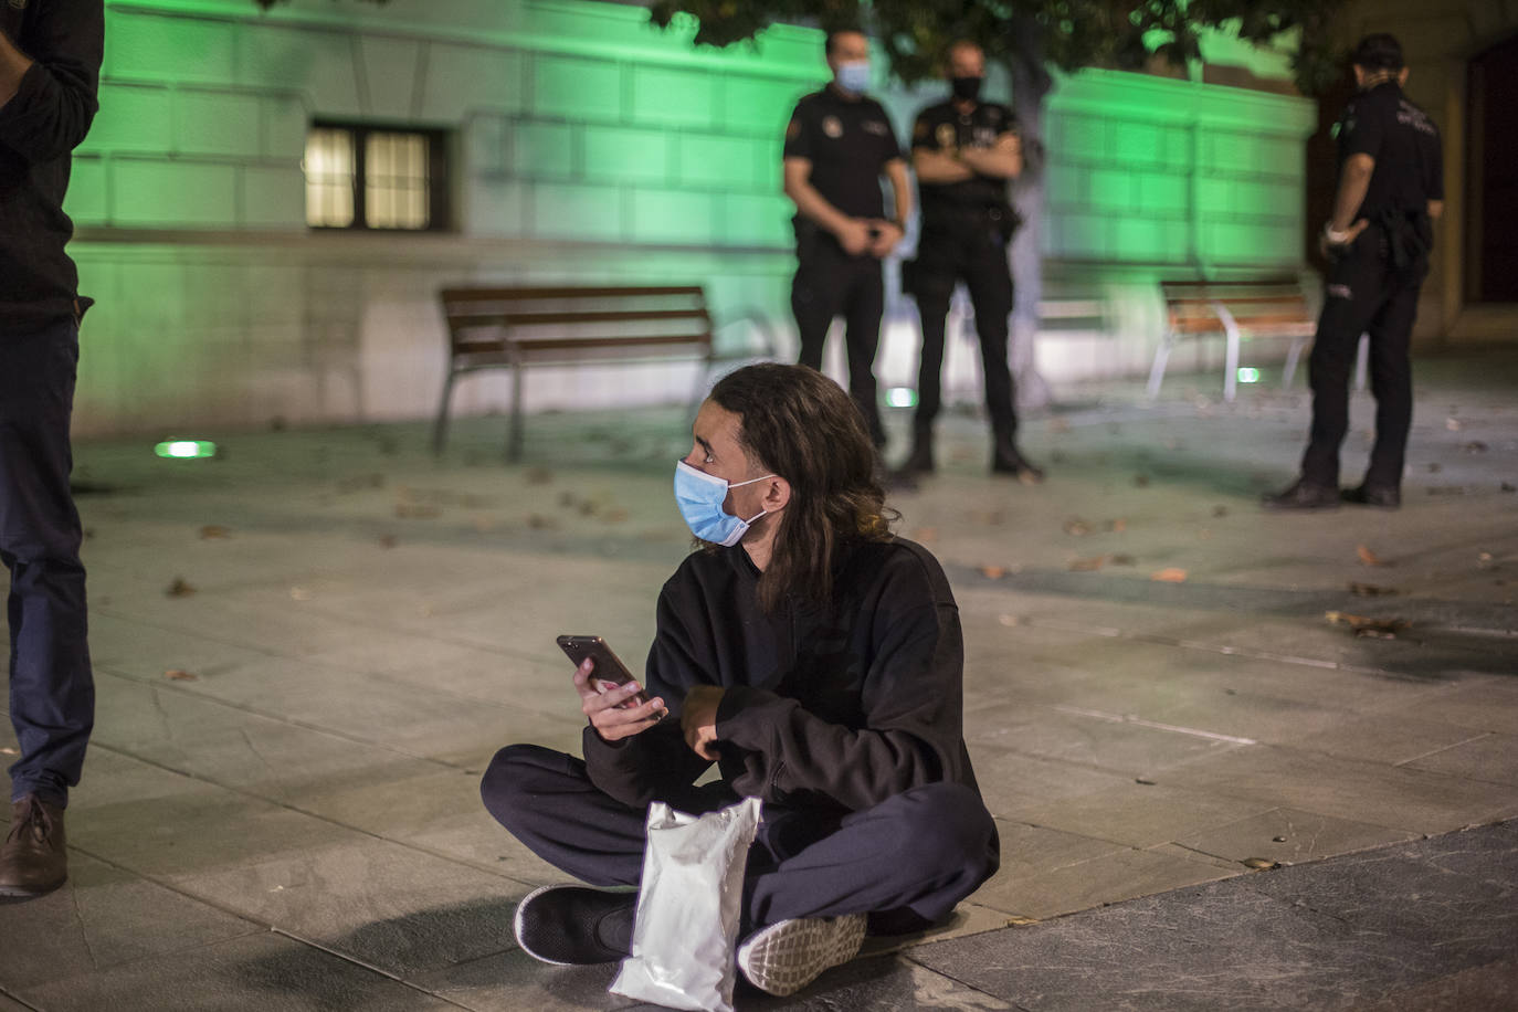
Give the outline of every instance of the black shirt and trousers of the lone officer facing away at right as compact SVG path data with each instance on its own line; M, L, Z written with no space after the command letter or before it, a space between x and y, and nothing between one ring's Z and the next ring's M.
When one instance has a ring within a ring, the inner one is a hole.
M1365 91L1339 120L1339 168L1351 155L1375 159L1356 220L1369 226L1328 272L1310 360L1313 428L1302 455L1302 484L1339 487L1339 445L1350 426L1350 364L1360 334L1371 335L1375 448L1362 495L1401 487L1412 423L1409 344L1418 288L1428 273L1433 223L1428 202L1444 199L1439 130L1395 80Z

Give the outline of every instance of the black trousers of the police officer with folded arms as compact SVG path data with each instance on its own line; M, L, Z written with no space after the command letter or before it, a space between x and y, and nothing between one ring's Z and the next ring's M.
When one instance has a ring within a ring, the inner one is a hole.
M1013 275L1006 246L990 223L923 228L917 244L914 294L923 325L921 364L917 372L918 437L932 432L943 407L944 322L955 284L964 281L975 306L975 331L981 338L981 370L985 375L985 410L991 431L1011 438L1017 431L1013 407L1013 372L1006 364L1006 317L1013 311Z

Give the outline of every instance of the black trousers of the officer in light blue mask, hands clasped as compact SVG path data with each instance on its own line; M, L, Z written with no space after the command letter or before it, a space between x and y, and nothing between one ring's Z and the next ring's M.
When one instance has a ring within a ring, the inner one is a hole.
M868 253L850 256L830 235L815 229L805 229L797 238L795 259L791 313L802 337L800 363L821 370L827 328L835 316L842 316L849 394L864 414L870 438L876 446L885 446L874 382L874 355L880 347L880 316L885 313L880 261Z

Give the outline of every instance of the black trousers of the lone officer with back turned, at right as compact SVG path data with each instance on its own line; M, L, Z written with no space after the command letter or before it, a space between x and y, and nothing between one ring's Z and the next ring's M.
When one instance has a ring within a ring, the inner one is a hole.
M1371 391L1375 394L1375 445L1365 484L1400 489L1407 429L1413 417L1409 349L1418 290L1425 266L1398 275L1386 255L1384 232L1371 226L1328 272L1324 311L1309 360L1313 426L1302 455L1302 479L1339 484L1339 446L1350 429L1350 372L1360 334L1371 335Z

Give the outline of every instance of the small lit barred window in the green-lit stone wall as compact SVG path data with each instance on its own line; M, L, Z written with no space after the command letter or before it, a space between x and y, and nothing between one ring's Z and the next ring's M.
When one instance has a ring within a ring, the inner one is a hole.
M443 231L448 161L440 130L313 123L305 222L313 229Z

